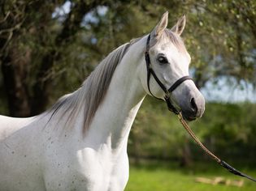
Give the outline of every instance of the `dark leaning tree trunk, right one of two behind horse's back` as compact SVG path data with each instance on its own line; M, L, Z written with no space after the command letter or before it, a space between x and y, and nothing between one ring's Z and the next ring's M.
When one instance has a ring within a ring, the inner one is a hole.
M46 53L42 58L41 68L37 72L37 83L33 86L32 115L37 115L44 111L49 103L50 91L52 90L51 82L53 80L50 71L53 69L54 63L59 62L62 57L62 47L67 46L68 43L73 40L73 36L75 36L80 29L80 23L85 14L99 6L100 3L101 1L93 1L87 5L85 1L78 1L75 6L72 7L67 19L63 23L62 31L55 38L54 49Z

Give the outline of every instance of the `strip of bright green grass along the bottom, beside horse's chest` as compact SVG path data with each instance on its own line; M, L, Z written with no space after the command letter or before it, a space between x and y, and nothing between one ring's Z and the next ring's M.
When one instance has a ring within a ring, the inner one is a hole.
M196 170L193 170L196 169ZM241 168L240 168L241 169ZM256 176L256 169L243 168L241 169L251 176ZM200 191L200 190L218 190L218 191L236 191L246 190L255 191L256 183L244 180L244 185L239 188L232 185L208 185L197 183L196 177L215 178L222 176L229 180L241 180L238 176L234 176L226 170L219 168L218 165L200 165L191 168L179 168L169 166L166 163L161 164L142 164L131 165L128 185L125 191L150 191L150 190L178 190L178 191Z

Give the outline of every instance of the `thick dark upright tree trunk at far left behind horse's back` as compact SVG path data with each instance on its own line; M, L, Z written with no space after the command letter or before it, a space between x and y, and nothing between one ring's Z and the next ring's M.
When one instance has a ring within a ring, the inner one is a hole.
M40 10L41 6L46 3L44 1L3 1L0 4L2 9L0 14L0 59L9 115L11 117L29 117L31 116L31 99L28 93L27 77L32 51L24 41L26 34L35 35L33 30L30 30L37 21L32 11ZM51 16L52 11L47 11Z

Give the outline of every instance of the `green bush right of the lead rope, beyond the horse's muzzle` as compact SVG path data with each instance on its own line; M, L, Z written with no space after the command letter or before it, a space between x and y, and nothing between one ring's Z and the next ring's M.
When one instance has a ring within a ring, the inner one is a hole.
M255 104L208 104L198 132L211 147L229 158L255 158ZM254 161L255 162L255 161Z

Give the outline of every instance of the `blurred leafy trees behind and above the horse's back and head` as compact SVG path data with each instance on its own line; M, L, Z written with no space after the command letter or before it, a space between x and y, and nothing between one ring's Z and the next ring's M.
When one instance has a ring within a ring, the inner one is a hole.
M112 49L150 32L166 10L171 13L169 26L180 15L187 16L183 36L197 87L220 76L255 84L254 1L0 3L0 83L11 116L44 111L57 97L79 86ZM54 16L65 3L70 11Z

